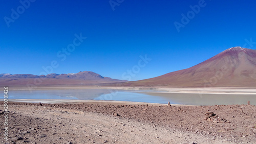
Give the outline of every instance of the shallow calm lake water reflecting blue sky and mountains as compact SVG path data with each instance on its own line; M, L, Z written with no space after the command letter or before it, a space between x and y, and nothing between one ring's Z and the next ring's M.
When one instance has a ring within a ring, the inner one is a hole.
M159 93L153 90L75 89L13 90L9 99L105 100L185 105L256 105L254 94Z

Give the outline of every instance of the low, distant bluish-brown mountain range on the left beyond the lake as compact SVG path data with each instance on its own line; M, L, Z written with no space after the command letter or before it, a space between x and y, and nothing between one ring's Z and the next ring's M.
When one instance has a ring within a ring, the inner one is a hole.
M125 82L124 80L102 77L92 71L80 71L76 74L48 74L48 75L31 75L31 74L0 74L0 85L26 85L40 81L40 85L59 85L59 84L99 84L99 83L116 83Z

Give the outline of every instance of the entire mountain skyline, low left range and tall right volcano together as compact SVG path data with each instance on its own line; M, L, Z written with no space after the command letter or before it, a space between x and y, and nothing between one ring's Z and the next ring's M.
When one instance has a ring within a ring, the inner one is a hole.
M199 56L200 57L200 56ZM0 74L0 85L72 85L93 84L132 87L256 87L256 50L231 47L193 67L140 81L124 81L102 77L92 71L76 74Z

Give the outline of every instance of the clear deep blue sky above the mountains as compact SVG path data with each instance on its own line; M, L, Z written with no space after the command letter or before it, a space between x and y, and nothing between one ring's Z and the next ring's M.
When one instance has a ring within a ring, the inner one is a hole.
M187 15L190 5L200 1L124 0L113 11L108 0L37 0L23 12L19 1L3 0L0 74L39 75L42 66L55 60L59 65L52 72L57 74L88 70L126 79L125 71L134 67L137 74L131 80L140 80L194 66L229 47L255 49L255 1L205 0L178 32L174 22L182 23L181 14ZM11 9L17 8L19 16L6 22L6 17L12 18ZM80 33L87 39L65 60L58 57ZM152 60L136 69L145 54Z

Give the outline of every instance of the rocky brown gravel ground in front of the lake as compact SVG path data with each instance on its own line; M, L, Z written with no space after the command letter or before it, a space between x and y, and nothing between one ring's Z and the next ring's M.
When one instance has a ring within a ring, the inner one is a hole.
M9 140L3 137L5 119L1 118L2 143L256 141L256 106L249 104L178 107L9 103L8 108Z

